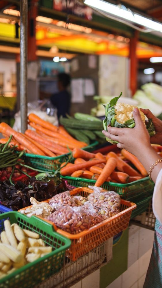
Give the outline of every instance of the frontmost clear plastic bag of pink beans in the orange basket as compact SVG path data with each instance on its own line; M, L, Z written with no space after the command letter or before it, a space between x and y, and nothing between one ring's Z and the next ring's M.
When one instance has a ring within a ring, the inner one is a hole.
M71 234L78 234L91 227L91 218L82 209L82 206L62 206L47 219Z

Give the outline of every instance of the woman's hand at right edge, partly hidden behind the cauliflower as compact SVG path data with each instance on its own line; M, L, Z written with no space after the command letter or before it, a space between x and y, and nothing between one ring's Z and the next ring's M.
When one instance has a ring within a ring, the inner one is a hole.
M155 127L156 134L150 138L151 144L159 144L162 145L162 121L155 117L154 114L149 109L142 109L140 110L146 115L148 119L152 119L152 122Z

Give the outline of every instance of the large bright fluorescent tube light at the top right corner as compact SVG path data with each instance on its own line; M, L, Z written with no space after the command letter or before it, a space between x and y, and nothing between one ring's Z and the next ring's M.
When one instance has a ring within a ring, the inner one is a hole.
M126 20L132 21L136 24L140 24L142 26L146 26L150 29L154 29L156 31L162 32L162 24L152 21L148 18L140 16L138 14L133 14L128 10L121 9L120 7L107 3L102 0L85 0L84 4L102 10L104 12L116 15L118 17L124 18Z

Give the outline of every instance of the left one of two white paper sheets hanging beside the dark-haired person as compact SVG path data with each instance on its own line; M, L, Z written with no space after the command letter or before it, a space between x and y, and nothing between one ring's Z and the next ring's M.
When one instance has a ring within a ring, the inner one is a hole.
M71 80L71 102L84 103L84 79Z

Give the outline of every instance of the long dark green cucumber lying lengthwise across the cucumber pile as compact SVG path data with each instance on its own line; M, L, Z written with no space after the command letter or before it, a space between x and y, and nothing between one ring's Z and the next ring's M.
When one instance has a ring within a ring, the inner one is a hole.
M68 119L60 117L60 124L65 126L65 128L73 128L78 130L102 130L102 121L84 121L78 119Z

